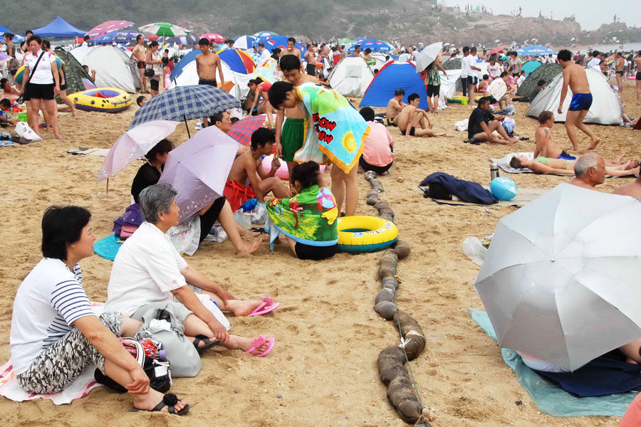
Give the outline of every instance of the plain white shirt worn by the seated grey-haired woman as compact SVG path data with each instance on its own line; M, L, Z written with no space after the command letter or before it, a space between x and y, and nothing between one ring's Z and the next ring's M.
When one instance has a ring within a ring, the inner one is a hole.
M187 285L185 261L165 233L144 222L127 238L113 261L105 310L132 315L152 302L171 302L172 290Z

